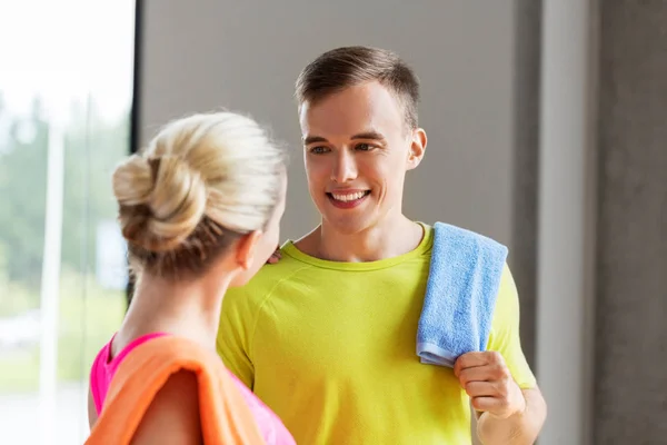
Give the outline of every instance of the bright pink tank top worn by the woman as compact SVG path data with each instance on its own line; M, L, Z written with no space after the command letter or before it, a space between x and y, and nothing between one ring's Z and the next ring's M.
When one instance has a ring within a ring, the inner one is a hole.
M111 379L118 369L118 366L122 363L123 358L128 356L136 347L149 342L153 338L168 335L166 333L153 333L141 336L132 340L126 346L116 357L111 357L111 342L104 345L98 353L92 368L90 372L90 393L92 394L92 400L94 402L94 408L100 415L104 399L107 398L107 392ZM257 397L241 380L237 378L232 373L228 370L229 375L237 383L239 390L241 392L248 407L252 412L252 416L257 422L257 426L261 435L265 438L267 445L295 445L296 442L291 434L285 427L280 418L266 406L259 397Z

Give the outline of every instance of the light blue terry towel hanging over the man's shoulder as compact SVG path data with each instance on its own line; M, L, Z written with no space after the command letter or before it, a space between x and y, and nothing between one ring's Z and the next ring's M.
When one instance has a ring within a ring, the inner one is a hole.
M454 367L461 354L486 350L507 247L444 222L434 230L417 355Z

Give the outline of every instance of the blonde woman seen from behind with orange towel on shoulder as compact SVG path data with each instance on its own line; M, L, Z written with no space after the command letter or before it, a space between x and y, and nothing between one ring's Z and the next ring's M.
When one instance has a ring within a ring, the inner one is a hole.
M231 112L173 121L116 169L137 286L92 365L89 443L293 444L216 353L226 289L278 244L286 181L282 151Z

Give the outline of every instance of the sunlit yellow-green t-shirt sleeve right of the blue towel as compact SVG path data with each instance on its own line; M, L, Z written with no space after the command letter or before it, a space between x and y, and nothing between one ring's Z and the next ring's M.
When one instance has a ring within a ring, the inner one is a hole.
M521 389L535 388L537 382L521 349L519 337L519 296L509 267L505 265L491 322L489 350L502 355L515 382Z

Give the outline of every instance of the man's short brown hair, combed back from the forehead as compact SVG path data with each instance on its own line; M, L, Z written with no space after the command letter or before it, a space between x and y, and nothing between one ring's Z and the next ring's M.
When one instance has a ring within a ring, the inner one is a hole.
M417 128L419 80L396 53L371 47L341 47L327 51L308 63L299 75L296 96L301 106L315 103L355 85L378 81L405 108L406 123Z

